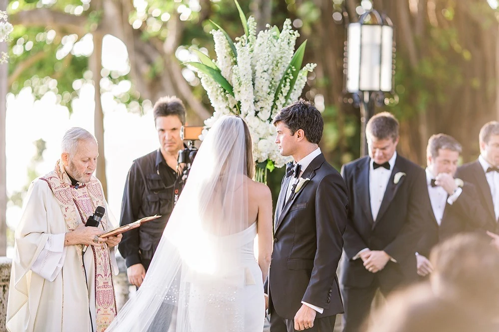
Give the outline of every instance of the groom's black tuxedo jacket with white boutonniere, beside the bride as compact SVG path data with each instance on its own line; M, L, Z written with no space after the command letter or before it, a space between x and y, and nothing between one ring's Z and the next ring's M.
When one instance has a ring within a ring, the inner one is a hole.
M343 248L348 199L345 183L322 154L303 171L309 178L285 202L282 179L274 219L268 275L270 312L293 319L302 301L324 309L317 318L343 313L336 269Z

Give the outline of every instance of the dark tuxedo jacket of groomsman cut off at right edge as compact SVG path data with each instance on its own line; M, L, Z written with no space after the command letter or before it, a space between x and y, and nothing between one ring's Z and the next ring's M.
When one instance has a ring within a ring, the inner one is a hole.
M456 177L463 181L472 183L478 191L478 198L483 209L483 213L477 217L482 218L482 229L499 234L499 227L494 212L494 202L492 201L491 187L487 182L484 168L477 160L473 163L465 164L458 168ZM480 223L480 222L479 222Z

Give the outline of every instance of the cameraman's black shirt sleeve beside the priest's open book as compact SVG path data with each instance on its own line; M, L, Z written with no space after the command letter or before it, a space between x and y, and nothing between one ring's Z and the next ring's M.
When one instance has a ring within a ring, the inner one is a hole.
M134 162L128 171L121 203L120 226L128 225L136 221L142 202L142 192L144 191L144 181L139 175L140 167ZM118 244L121 255L125 258L127 267L141 263L139 256L139 229L131 229L123 233L123 238Z

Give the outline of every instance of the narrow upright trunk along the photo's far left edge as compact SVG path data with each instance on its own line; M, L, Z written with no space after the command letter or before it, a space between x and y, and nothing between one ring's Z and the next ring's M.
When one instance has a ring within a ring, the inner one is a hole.
M0 0L0 10L7 10L7 0ZM0 42L0 53L7 52L7 43ZM5 116L7 111L6 95L8 65L0 65L0 256L5 256L7 251L7 224L5 211L7 209L7 172L5 156Z

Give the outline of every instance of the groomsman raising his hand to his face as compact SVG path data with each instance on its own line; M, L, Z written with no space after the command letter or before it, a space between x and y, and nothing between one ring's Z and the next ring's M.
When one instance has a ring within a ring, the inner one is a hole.
M449 135L433 135L428 141L426 184L431 209L416 252L418 274L422 277L433 272L428 258L437 243L479 229L486 222L475 186L454 178L461 151L461 144Z

